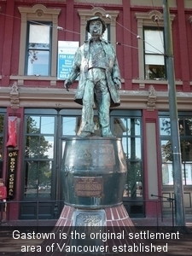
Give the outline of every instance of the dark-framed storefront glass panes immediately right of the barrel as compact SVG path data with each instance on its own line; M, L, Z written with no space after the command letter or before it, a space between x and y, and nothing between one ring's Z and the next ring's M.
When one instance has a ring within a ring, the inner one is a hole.
M124 197L143 196L142 144L140 118L113 118L113 134L121 137L127 160L127 177Z

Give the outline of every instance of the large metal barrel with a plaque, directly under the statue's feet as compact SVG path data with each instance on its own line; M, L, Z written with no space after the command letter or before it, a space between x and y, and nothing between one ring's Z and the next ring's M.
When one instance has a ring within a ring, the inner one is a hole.
M65 204L89 209L120 205L126 172L120 138L67 138L61 167Z

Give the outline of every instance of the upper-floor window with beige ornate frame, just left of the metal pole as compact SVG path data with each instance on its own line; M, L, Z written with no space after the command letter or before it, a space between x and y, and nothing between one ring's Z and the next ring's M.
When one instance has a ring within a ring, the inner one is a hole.
M163 14L158 10L136 13L138 39L138 75L140 88L151 83L149 79L166 79ZM175 15L170 15L171 22ZM154 46L154 47L152 47ZM133 81L134 82L134 81ZM138 80L137 80L138 83ZM154 82L155 83L155 82ZM165 82L161 82L166 84Z

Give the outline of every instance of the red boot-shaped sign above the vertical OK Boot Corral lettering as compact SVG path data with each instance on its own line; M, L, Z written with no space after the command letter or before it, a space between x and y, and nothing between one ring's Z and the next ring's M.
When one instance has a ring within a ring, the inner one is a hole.
M9 116L8 119L8 142L6 147L17 146L17 117Z

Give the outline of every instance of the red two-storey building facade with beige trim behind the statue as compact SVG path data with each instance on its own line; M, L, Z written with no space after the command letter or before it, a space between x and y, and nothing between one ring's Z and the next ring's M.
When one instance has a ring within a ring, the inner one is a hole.
M184 206L191 214L192 3L170 0L169 6ZM9 219L61 212L62 152L65 138L76 135L81 109L73 102L78 82L67 91L59 77L65 67L58 42L83 44L93 15L106 21L104 36L119 60L121 105L110 118L127 158L125 207L133 217L172 214L171 202L151 196L173 197L162 1L0 0L0 178L8 188ZM97 117L95 123L99 134ZM15 146L8 144L12 132Z

